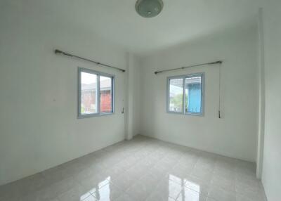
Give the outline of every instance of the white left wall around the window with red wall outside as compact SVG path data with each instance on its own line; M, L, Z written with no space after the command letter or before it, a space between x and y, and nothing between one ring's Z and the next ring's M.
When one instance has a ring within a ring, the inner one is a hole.
M87 30L61 24L48 9L41 13L41 3L0 4L0 185L125 137L126 74L57 56L53 49L121 68L126 68L125 51ZM78 66L115 74L114 115L77 119Z

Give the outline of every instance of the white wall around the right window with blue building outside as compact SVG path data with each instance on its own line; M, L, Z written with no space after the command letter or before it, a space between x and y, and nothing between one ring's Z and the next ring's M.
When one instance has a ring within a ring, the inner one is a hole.
M143 58L141 134L256 161L257 41L256 25L237 27ZM218 66L154 74L156 70L216 60L223 60L222 119L218 119ZM193 72L206 73L204 117L166 113L166 77Z

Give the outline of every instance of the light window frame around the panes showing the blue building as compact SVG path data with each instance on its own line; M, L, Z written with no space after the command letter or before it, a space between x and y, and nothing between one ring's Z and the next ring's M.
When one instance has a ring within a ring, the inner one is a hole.
M185 79L190 77L199 77L199 76L201 77L201 112L185 112ZM170 80L171 79L183 79L183 105L182 105L183 111L182 112L170 111ZM179 115L204 116L204 99L205 99L204 84L205 84L204 72L167 77L166 112L171 114L179 114Z

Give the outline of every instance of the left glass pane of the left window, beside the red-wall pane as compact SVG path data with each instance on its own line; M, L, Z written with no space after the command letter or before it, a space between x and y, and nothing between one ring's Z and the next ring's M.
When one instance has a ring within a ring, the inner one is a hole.
M81 72L81 115L98 112L97 103L97 76Z

